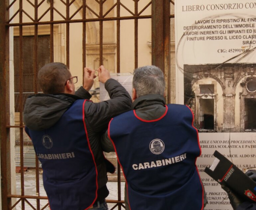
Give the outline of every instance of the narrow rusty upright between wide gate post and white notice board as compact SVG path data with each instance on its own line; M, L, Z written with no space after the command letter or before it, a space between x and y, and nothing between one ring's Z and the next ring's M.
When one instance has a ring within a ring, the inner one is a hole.
M170 3L164 1L163 38L164 38L164 74L166 78L167 103L171 103L171 26Z

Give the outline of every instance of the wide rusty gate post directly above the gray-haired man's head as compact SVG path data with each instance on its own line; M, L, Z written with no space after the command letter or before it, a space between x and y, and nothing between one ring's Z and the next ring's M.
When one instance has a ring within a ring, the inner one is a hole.
M152 0L152 65L164 71L163 58L163 3L165 0Z

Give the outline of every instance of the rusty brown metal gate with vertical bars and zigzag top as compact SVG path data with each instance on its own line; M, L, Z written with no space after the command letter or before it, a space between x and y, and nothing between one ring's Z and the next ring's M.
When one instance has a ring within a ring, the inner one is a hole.
M22 2L25 0L14 0L13 3L9 4L9 0L0 1L0 140L1 140L1 192L2 192L2 208L11 210L19 202L22 203L22 210L25 210L25 203L28 203L30 207L35 210L43 210L40 208L40 200L47 199L46 196L40 196L39 190L39 161L36 157L36 193L37 196L26 196L24 193L24 170L23 170L23 158L21 158L21 185L22 192L21 195L11 194L11 161L10 161L10 129L19 128L20 130L20 154L23 157L23 107L22 107L22 91L20 94L20 124L18 126L10 125L10 100L9 100L9 28L12 26L19 27L19 43L20 43L20 60L22 61L22 27L26 25L33 25L34 29L34 57L33 57L33 73L37 73L37 43L38 43L38 26L39 25L50 25L50 62L54 61L54 24L66 24L66 64L69 66L69 25L72 23L82 23L83 24L83 66L86 66L86 23L87 22L99 22L100 24L100 39L99 39L99 51L100 51L100 65L103 63L103 24L104 21L116 21L116 37L117 37L117 73L120 73L120 21L122 20L134 20L134 67L138 67L138 20L139 19L150 19L151 18L151 31L152 31L152 65L159 66L166 77L166 90L167 90L167 102L170 103L170 18L174 18L174 15L170 15L170 4L174 4L173 0L151 0L151 2L144 7L141 11L138 11L138 3L140 0L133 0L135 12L134 14L129 11L122 3L121 0L116 0L116 3L111 7L105 14L103 13L103 6L106 0L94 0L99 4L99 14L96 14L87 5L87 0L82 0L82 6L75 12L78 13L80 10L83 11L82 19L76 20L72 19L75 14L70 14L70 6L75 0L60 0L66 6L66 17L60 14L58 10L54 7L54 0L50 0L49 9L38 16L38 9L40 5L46 0L35 0L32 4L30 0L26 0L29 4L34 7L35 17L32 18L27 14L22 8ZM19 2L19 10L14 13L14 15L9 18L9 9L15 2ZM151 5L151 15L142 15L143 11L146 10ZM116 7L116 17L107 18L107 14ZM130 12L130 16L121 17L120 8L123 7ZM86 9L93 12L97 18L86 18ZM43 16L50 11L50 21L41 21ZM64 19L62 21L54 21L54 11L61 15ZM23 22L22 14L29 17L31 22ZM19 22L11 23L13 18L18 15ZM23 84L23 63L19 67L19 89L22 90ZM34 77L34 92L38 93L38 81L37 77ZM118 165L118 200L107 200L108 203L116 203L112 208L118 207L121 210L124 207L124 201L121 200L121 172L120 166ZM11 206L11 198L18 198L18 201ZM36 208L29 203L27 199L36 199Z

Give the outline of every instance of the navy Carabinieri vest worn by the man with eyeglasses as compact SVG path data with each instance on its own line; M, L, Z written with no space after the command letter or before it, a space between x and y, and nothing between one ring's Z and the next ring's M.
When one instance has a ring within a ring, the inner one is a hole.
M86 210L97 199L97 167L77 100L52 127L25 128L42 163L43 186L51 210Z

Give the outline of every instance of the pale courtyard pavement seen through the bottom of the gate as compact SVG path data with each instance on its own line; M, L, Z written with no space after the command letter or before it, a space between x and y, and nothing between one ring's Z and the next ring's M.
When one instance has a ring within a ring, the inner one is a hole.
M21 174L16 174L16 193L17 195L21 194ZM36 175L35 171L28 170L27 172L24 172L24 186L25 186L25 195L26 196L36 196ZM107 183L109 195L107 197L107 200L118 200L117 195L117 182L108 182ZM125 182L121 182L121 199L124 200L124 186ZM43 181L42 181L42 175L40 174L40 196L46 196L46 193L43 188ZM36 209L36 200L35 199L27 199L32 206ZM14 202L15 203L15 202ZM48 203L47 200L40 200L40 209L43 208ZM114 207L115 204L108 203L108 209L110 210L112 207ZM14 208L15 210L15 208ZM22 203L19 202L16 205L16 210L22 210ZM29 206L28 203L25 203L25 210L33 210L32 207ZM49 207L45 208L44 210L50 210ZM118 207L115 207L114 210L118 210ZM124 210L124 208L122 208Z

